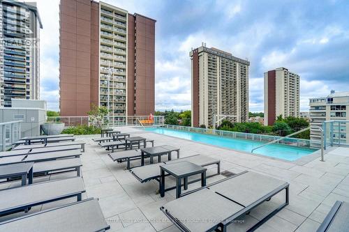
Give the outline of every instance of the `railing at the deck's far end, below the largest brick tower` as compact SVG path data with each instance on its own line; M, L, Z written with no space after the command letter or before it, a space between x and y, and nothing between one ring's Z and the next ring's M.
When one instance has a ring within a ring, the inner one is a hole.
M110 116L105 117L107 126L162 126L164 125L164 116ZM59 116L59 117L47 117L47 122L52 123L64 123L65 127L73 127L77 125L90 125L89 116Z

